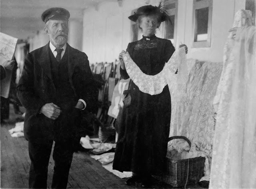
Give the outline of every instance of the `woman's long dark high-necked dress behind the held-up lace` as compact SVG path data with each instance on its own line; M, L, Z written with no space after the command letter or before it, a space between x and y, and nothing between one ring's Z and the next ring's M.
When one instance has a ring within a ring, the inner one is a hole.
M170 40L151 36L130 43L127 51L142 72L156 75L175 49ZM121 75L124 79L129 78L125 70L121 69ZM130 106L124 108L113 169L140 174L161 173L171 117L168 86L158 95L141 92L133 82L130 89L132 100Z

